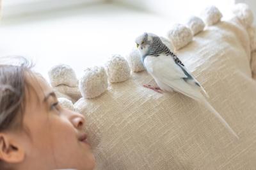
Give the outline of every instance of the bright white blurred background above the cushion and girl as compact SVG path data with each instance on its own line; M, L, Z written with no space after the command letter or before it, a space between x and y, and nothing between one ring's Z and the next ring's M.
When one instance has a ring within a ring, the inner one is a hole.
M166 36L173 24L184 24L210 4L227 19L241 2L256 16L255 0L2 0L0 56L26 56L45 78L60 63L80 77L111 54L125 57L141 33Z

